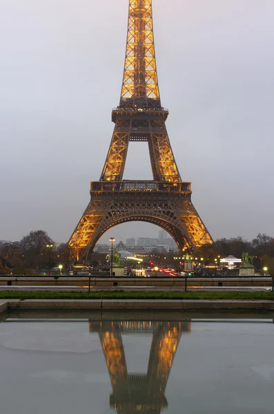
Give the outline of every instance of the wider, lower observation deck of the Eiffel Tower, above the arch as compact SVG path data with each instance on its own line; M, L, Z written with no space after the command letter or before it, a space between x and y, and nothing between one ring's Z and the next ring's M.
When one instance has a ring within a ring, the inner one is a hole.
M140 193L188 193L191 183L164 181L91 181L90 193L104 192L140 192Z

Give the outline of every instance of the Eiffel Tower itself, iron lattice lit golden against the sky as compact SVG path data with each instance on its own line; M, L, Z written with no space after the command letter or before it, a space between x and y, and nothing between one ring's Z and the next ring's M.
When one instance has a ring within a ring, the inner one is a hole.
M152 0L129 0L124 79L110 148L99 181L90 183L90 203L68 242L70 258L88 259L104 233L128 221L166 230L182 252L213 240L191 201L170 146L155 60ZM123 173L130 141L148 142L153 180L129 181Z

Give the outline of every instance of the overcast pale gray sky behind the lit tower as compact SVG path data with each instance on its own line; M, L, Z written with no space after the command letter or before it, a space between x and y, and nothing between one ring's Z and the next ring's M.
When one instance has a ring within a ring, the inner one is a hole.
M274 235L274 1L153 6L162 104L193 204L213 238ZM41 228L66 242L84 213L112 136L127 14L128 0L1 0L0 239ZM146 143L130 143L124 178L152 178Z

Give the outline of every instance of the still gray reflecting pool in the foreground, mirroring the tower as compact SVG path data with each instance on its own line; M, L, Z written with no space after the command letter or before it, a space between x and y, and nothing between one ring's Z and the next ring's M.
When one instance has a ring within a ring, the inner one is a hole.
M273 414L273 315L2 320L1 414Z

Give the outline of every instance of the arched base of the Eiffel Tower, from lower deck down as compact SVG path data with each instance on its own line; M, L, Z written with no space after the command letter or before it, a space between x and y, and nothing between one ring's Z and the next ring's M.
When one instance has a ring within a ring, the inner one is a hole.
M146 221L166 230L181 252L212 244L191 202L190 183L92 181L90 203L70 238L70 259L88 259L110 228Z

